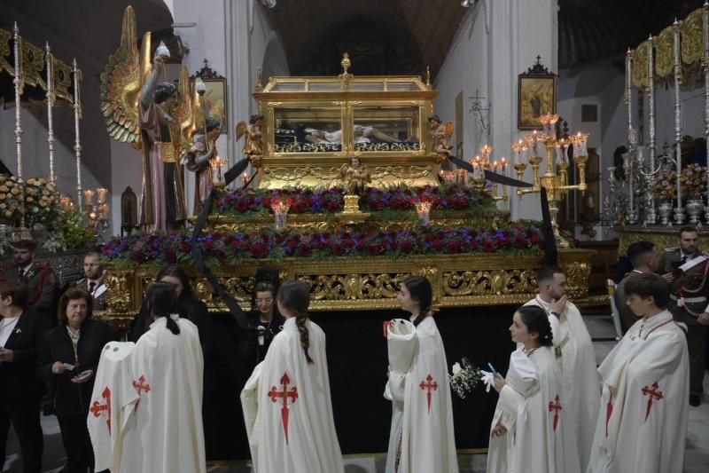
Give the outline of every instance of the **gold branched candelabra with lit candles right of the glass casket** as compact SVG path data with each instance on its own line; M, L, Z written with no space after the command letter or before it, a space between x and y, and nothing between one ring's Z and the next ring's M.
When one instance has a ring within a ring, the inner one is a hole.
M586 163L588 162L586 142L588 141L588 133L579 131L570 138L557 138L555 125L558 119L559 116L557 114L541 115L539 121L543 125L543 131L539 133L534 130L534 133L527 135L524 140L520 139L512 145L512 151L516 155L514 168L517 170L518 179L522 180L525 176L526 163L524 162L524 154L526 151L529 151L527 161L532 166L534 175L532 187L518 189L518 195L540 193L542 187L547 191L549 214L551 215L551 225L554 228L557 246L559 248L568 248L570 243L562 238L557 225L558 203L565 198L569 191L578 190L581 195L586 191ZM546 147L547 151L547 171L540 176L539 169L541 162L544 161L541 156L542 145ZM569 146L572 145L573 161L579 175L578 184L575 185L569 185L568 183L569 162L566 160L566 152ZM554 159L555 150L558 157L557 162Z

